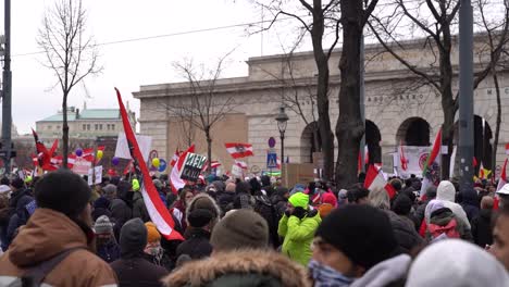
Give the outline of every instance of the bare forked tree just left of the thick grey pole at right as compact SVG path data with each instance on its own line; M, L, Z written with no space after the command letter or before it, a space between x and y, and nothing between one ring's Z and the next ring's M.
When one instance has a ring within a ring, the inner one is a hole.
M454 92L455 72L451 52L455 33L458 30L459 0L392 0L385 10L372 15L368 23L370 29L385 50L414 75L421 77L436 89L442 98L444 124L442 126L443 144L452 150L455 115L459 108L458 92ZM389 10L387 12L387 10ZM418 65L406 54L406 47L400 42L405 35L423 37L423 53L429 52L434 61L427 65ZM494 43L494 53L485 67L475 73L474 89L486 78L493 66L498 62L504 42L507 38L507 27ZM448 177L450 153L443 154L443 177Z

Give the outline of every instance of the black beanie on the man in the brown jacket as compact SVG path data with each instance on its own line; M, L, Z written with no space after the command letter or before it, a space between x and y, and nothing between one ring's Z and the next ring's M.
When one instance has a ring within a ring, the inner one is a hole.
M82 213L90 197L87 183L67 170L46 174L35 187L37 207L62 212L72 219Z

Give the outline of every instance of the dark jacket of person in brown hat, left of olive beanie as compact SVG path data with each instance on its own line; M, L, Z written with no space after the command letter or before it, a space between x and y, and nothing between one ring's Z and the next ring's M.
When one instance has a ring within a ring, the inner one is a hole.
M210 257L212 246L210 245L210 233L202 228L189 227L186 234L186 241L177 247L176 257L187 254L191 259L202 259Z

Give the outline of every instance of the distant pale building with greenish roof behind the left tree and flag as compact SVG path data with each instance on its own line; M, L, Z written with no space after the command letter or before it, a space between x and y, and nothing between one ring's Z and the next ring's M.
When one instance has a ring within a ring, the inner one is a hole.
M136 127L135 113L128 109L129 121L133 129ZM62 137L63 113L36 122L37 134L45 139ZM119 109L87 109L86 104L80 111L75 107L67 108L67 125L70 138L88 138L117 136L124 132Z

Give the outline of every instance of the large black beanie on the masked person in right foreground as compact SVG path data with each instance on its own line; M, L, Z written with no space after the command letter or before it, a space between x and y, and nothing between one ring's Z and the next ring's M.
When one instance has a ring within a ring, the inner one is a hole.
M365 270L399 250L387 215L364 204L348 204L334 210L323 220L315 236Z

